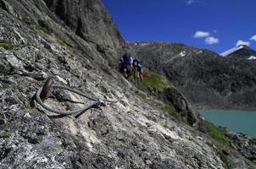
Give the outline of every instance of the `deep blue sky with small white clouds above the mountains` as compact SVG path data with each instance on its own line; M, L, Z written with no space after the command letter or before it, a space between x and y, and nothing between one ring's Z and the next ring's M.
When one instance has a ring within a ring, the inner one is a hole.
M103 4L126 41L181 42L218 53L239 41L256 49L256 0L103 0Z

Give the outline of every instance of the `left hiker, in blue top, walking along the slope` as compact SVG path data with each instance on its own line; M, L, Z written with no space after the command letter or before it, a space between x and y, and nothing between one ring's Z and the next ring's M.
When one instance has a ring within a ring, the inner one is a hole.
M120 58L120 73L122 73L125 79L128 79L131 75L133 58L130 54L125 53Z

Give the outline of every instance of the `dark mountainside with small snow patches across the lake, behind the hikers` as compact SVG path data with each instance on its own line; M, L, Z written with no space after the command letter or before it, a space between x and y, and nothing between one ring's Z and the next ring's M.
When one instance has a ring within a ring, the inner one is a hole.
M253 61L220 57L182 44L141 42L131 46L145 67L165 75L194 106L255 110Z

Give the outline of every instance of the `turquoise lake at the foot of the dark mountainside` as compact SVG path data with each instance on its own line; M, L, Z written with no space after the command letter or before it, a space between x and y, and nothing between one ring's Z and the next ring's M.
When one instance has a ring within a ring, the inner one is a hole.
M209 122L226 127L232 132L247 134L256 139L256 112L201 111Z

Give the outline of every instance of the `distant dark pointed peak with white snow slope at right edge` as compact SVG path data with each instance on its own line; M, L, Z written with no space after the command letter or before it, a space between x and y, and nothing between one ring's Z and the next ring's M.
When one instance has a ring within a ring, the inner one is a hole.
M226 52L220 54L223 57L230 57L230 58L242 58L248 60L255 60L256 59L256 52L253 51L249 46L237 46L234 47Z

